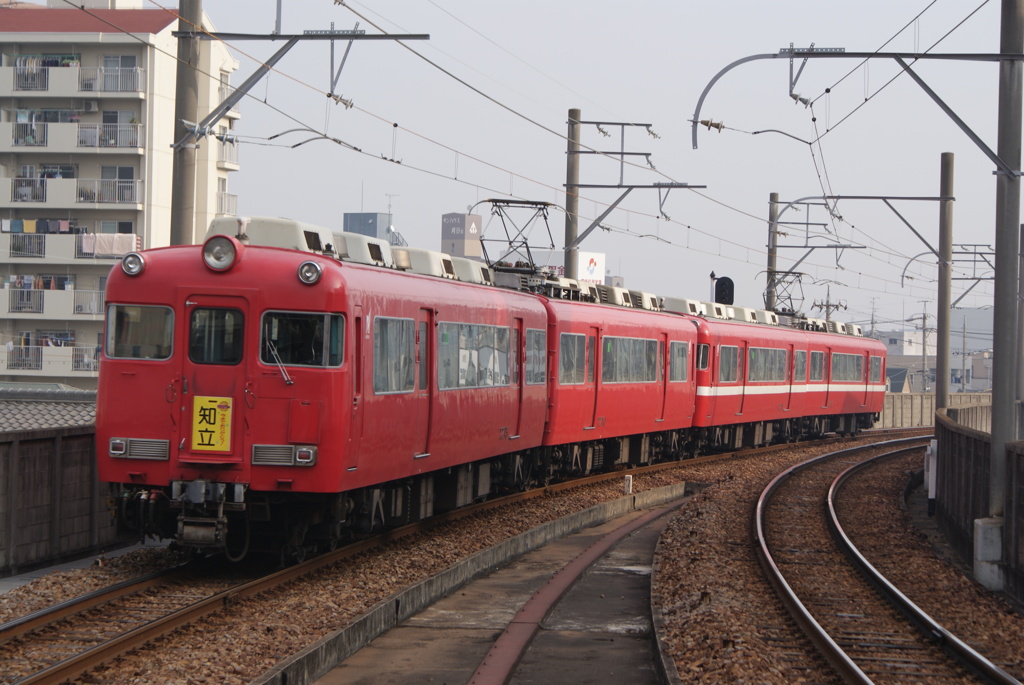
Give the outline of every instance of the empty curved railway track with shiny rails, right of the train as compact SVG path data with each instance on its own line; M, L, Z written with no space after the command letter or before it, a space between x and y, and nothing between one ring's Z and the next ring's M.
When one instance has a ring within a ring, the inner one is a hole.
M845 480L877 460L923 446L921 438L906 438L855 447L779 474L757 503L762 566L790 613L846 682L961 683L981 677L1017 683L879 575L836 516Z

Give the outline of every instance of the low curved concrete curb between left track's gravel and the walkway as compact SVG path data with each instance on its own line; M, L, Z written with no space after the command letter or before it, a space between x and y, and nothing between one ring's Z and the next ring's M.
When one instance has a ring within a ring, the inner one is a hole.
M377 636L418 613L469 581L490 572L542 545L592 525L604 523L631 511L645 509L685 495L685 483L666 485L627 496L542 524L483 550L447 570L418 583L376 604L351 625L325 635L254 679L252 685L306 685L342 660L370 644ZM660 643L660 640L658 641ZM664 659L663 659L664 660ZM674 670L674 669L673 669Z

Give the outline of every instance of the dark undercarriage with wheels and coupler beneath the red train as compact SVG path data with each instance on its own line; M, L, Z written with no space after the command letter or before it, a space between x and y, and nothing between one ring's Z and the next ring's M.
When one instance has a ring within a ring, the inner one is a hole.
M178 482L167 490L126 486L118 516L135 533L170 539L184 549L231 561L276 555L291 563L503 494L700 454L852 435L877 418L804 417L536 447L339 494L258 493L210 480Z

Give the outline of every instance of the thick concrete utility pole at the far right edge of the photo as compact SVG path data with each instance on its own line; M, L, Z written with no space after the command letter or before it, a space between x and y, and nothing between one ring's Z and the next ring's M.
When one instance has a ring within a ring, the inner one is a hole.
M1002 0L999 52L1024 51L1024 0ZM988 514L1002 518L1007 443L1016 437L1017 261L1020 252L1021 75L1016 59L999 61L997 155L1014 173L995 174L995 306L992 311L992 453Z

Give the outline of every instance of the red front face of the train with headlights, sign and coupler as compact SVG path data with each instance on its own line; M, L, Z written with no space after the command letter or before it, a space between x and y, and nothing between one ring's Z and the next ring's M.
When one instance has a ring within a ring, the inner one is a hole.
M347 434L347 414L323 421L327 398L351 394L343 291L333 259L230 236L112 270L97 461L126 524L233 558L256 540L337 539L345 465L322 445ZM301 529L271 516L293 493Z

